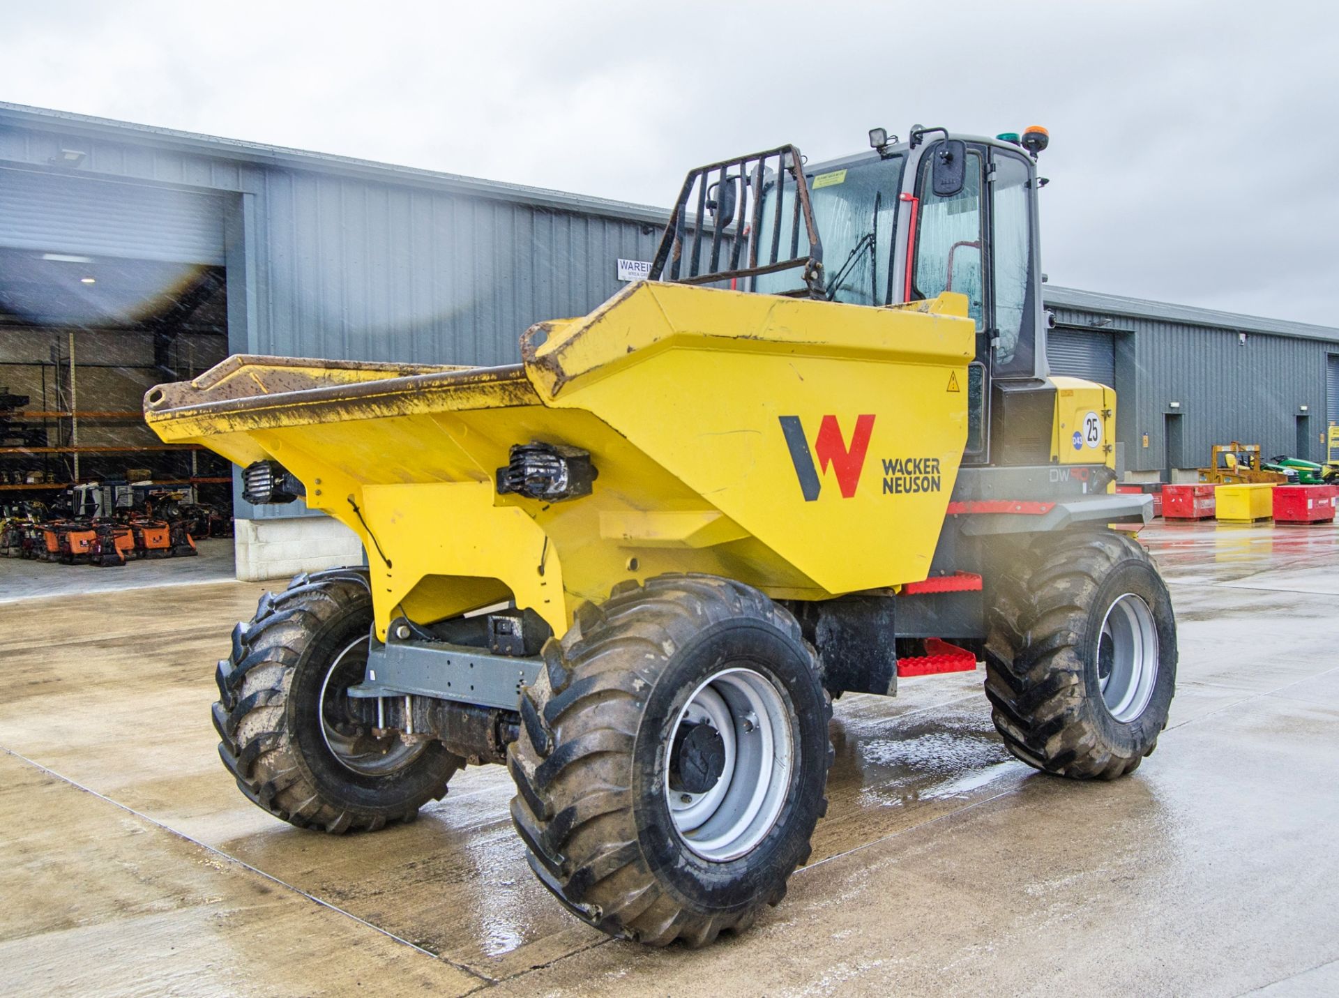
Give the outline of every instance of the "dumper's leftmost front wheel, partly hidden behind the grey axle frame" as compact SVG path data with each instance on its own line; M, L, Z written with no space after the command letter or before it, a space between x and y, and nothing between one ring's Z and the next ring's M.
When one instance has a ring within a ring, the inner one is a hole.
M265 593L218 663L213 719L237 786L281 821L331 833L411 821L463 760L359 729L344 690L362 682L372 626L367 575L300 575Z

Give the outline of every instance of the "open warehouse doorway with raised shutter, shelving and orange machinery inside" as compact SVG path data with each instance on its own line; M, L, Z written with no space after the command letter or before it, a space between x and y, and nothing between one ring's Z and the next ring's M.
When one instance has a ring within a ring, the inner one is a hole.
M230 572L229 465L161 443L141 417L150 386L228 354L225 209L0 169L0 512L47 525L8 530L4 553L119 565L200 551Z

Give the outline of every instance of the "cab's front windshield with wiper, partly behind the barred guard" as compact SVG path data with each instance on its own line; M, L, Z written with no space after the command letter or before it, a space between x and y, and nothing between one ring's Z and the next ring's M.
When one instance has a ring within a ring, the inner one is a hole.
M902 182L902 157L870 159L852 166L805 174L814 222L823 246L823 287L833 301L856 305L884 305L890 300L893 230L897 225L897 196ZM781 192L781 238L791 236L795 186ZM763 186L758 245L771 246L777 220L777 184ZM809 238L799 225L798 252L782 246L782 257L805 256ZM762 253L761 253L762 255ZM765 295L801 291L798 269L757 277L754 289Z

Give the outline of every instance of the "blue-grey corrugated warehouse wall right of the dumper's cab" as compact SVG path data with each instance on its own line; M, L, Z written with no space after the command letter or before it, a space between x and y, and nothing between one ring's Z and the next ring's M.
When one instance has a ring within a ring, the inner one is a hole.
M1182 414L1185 461L1201 465L1214 443L1259 443L1291 454L1302 406L1326 406L1326 359L1334 343L1292 336L1111 316L1054 308L1062 326L1102 324L1130 344L1129 371L1117 363L1118 431L1130 470L1164 468L1168 413ZM1169 403L1180 402L1177 409ZM1320 453L1319 421L1308 423L1311 454ZM1314 431L1312 431L1314 430ZM1142 441L1148 434L1149 445Z

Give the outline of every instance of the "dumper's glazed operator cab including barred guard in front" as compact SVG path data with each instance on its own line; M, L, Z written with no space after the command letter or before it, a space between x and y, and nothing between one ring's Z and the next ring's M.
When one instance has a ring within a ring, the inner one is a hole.
M874 129L870 151L842 159L810 165L782 146L700 167L651 276L872 307L965 295L976 322L967 461L984 464L990 410L1032 407L1024 397L1047 375L1036 205L1047 141L1038 127L991 139L916 126L905 142Z

